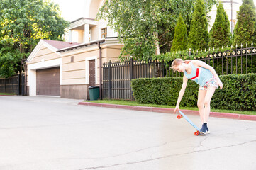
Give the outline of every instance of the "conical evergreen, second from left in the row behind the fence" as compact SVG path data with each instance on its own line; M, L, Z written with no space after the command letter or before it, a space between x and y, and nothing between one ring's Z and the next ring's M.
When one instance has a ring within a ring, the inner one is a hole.
M208 47L209 34L207 30L206 10L203 0L196 0L189 31L189 47L194 50Z

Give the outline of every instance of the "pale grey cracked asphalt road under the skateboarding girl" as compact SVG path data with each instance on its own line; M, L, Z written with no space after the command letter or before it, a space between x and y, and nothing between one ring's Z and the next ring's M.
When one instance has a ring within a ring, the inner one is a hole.
M210 118L196 137L173 114L77 103L0 96L0 170L256 169L255 121Z

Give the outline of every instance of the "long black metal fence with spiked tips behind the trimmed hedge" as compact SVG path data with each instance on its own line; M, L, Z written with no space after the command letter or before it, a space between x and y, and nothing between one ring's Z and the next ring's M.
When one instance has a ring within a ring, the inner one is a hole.
M197 58L211 65L218 75L247 74L256 72L256 47L216 52ZM132 79L152 77L180 77L184 74L172 72L172 62L108 62L102 67L102 97L108 99L133 100L130 86Z

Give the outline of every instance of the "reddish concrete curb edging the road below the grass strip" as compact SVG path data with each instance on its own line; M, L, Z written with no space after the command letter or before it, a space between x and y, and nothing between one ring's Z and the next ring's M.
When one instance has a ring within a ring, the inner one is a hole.
M127 106L127 105L115 105L115 104L106 104L106 103L91 103L91 102L79 102L79 105L85 106L97 106L105 108L122 108L134 111L150 111L150 112L160 112L160 113L171 113L173 114L174 108L155 108L155 107L146 107L146 106ZM183 110L182 112L187 115L199 115L199 111ZM211 117L216 118L231 118L238 120L253 120L256 121L256 115L240 115L235 113L221 113L221 112L211 112Z

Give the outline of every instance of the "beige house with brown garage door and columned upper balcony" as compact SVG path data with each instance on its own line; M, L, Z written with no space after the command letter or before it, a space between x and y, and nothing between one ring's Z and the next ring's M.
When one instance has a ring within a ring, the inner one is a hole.
M101 65L117 60L123 45L106 21L95 21L105 0L87 1L87 16L70 23L69 42L40 40L28 57L27 94L89 99L100 86Z

